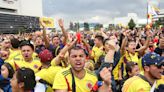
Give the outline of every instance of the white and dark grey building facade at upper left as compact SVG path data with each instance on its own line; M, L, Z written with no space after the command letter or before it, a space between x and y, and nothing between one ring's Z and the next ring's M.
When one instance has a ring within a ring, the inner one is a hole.
M42 10L42 0L0 0L0 32L37 30Z

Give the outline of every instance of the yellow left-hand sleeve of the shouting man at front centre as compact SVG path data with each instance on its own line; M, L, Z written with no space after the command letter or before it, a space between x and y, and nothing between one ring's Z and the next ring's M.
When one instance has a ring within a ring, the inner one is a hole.
M58 72L56 74L52 88L53 89L68 89L65 77L64 75L62 75L62 72Z

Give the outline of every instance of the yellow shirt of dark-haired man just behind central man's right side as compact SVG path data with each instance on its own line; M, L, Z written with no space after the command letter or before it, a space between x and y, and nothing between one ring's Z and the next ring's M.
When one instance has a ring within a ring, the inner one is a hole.
M103 47L98 48L98 47L96 47L96 46L94 46L94 47L92 48L92 54L91 54L91 56L94 57L95 63L97 63L99 57L105 53L105 52L102 50L102 48L103 48Z

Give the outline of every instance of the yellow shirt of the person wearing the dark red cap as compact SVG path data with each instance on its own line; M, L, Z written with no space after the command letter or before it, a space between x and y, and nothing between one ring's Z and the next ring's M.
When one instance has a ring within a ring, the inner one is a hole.
M60 71L62 68L59 66L50 66L49 68L41 69L39 72L36 73L36 77L39 77L40 79L45 80L46 82L53 85L55 75L58 71ZM53 89L48 86L46 92L53 92Z

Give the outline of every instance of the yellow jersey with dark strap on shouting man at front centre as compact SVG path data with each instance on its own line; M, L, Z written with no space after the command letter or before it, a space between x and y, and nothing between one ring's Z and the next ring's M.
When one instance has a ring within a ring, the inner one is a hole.
M90 92L92 87L97 82L95 73L89 70L86 70L86 74L83 79L79 79L76 76L74 76L74 78L76 84L76 92ZM68 89L66 79L68 80L69 87L72 90L72 75L70 68L63 69L57 73L54 79L53 89Z

